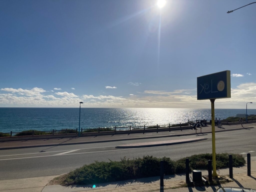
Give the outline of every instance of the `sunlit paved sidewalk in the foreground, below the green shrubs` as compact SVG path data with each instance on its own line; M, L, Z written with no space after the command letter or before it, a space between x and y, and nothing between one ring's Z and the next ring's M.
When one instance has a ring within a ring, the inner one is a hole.
M228 169L217 170L219 175L229 174ZM219 186L208 187L180 187L185 184L185 175L165 176L164 190L166 192L215 192L221 186L245 187L256 189L256 157L251 158L251 176L247 176L247 165L233 169L233 181ZM207 175L208 171L202 171L202 175ZM191 175L191 174L190 174ZM160 177L142 178L137 180L126 180L122 182L113 182L98 184L95 188L92 186L72 186L64 187L60 185L49 185L48 182L56 176L27 178L17 180L0 181L0 192L149 192L160 191ZM175 188L175 189L173 189Z

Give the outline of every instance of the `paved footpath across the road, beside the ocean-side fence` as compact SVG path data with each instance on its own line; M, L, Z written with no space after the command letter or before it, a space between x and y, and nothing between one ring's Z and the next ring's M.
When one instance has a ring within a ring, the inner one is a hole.
M244 124L244 128L254 128L256 123ZM215 126L215 132L221 131L232 131L243 129L241 125L223 125L222 128ZM202 133L211 133L211 126L202 127ZM110 136L92 136L92 137L76 137L76 138L57 138L57 139L41 139L41 140L23 140L23 141L12 141L12 142L0 142L0 150L4 149L15 149L15 148L30 148L30 147L41 147L41 146L57 146L57 145L73 145L73 144L86 144L95 142L110 142L120 140L135 140L142 138L160 138L160 137L174 137L174 136L185 136L200 134L201 130L176 130L171 132L153 132L152 136L148 134L118 134Z

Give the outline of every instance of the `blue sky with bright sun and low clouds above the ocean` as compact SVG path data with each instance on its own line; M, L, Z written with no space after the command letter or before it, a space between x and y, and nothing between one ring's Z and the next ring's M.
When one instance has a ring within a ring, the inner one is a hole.
M231 71L256 108L256 4L241 0L0 0L0 107L210 108L197 77Z

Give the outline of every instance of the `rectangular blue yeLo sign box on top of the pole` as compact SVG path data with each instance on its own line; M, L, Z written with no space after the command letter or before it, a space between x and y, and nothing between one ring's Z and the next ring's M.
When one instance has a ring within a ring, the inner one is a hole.
M197 78L197 100L230 98L230 71L222 71Z

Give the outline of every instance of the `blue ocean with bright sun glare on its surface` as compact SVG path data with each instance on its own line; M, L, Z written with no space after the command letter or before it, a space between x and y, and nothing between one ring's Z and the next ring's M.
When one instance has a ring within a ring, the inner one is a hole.
M245 114L246 109L215 109L215 117ZM256 109L248 109L256 114ZM210 120L210 109L176 108L81 108L80 128L153 126L188 120ZM79 108L0 108L0 132L76 129Z

